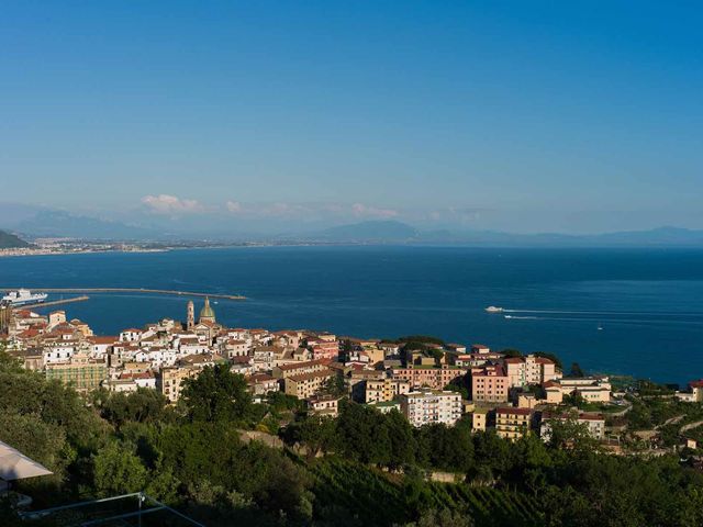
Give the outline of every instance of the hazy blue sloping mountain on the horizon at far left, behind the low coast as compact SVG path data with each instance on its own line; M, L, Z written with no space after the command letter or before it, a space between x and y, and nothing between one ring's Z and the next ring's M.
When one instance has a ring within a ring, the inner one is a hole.
M41 211L16 224L15 231L35 237L82 239L146 239L156 232L121 222L77 216L63 211Z

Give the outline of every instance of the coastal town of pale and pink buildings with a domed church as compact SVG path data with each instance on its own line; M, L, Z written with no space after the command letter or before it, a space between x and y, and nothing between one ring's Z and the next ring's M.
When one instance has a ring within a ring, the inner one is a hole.
M348 397L381 413L397 410L415 427L470 419L473 431L494 429L510 440L527 434L548 439L554 422L574 421L612 451L622 451L623 439L640 448L644 439L650 451L661 447L656 433L637 436L627 429L624 417L636 395L632 386L616 390L609 377L581 371L565 374L558 358L547 354L499 352L424 336L391 341L230 328L217 323L209 299L198 317L192 301L185 314L186 323L164 318L98 336L88 323L67 319L64 311L40 315L3 305L0 330L8 351L26 369L83 393L150 389L175 404L185 380L226 365L246 379L255 402L280 392L323 416L337 415L339 401ZM703 382L668 395L700 403ZM695 442L687 440L689 447Z

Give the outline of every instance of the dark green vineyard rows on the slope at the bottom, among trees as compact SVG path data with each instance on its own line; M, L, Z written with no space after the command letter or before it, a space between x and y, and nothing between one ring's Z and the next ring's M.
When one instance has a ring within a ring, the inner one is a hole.
M330 520L332 514L343 514L348 524L402 525L423 509L449 508L470 515L480 526L540 525L529 498L516 492L448 483L424 483L417 489L402 476L332 458L317 460L309 469L319 517Z

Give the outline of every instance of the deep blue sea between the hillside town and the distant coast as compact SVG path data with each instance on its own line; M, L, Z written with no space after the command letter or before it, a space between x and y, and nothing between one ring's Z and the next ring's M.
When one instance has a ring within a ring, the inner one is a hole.
M703 377L700 249L365 246L35 256L0 258L0 287L241 293L248 300L213 305L220 322L359 337L427 334L551 351L567 368L578 361L590 372L678 383ZM65 309L104 335L186 315L185 298L90 296ZM488 305L506 311L488 314Z

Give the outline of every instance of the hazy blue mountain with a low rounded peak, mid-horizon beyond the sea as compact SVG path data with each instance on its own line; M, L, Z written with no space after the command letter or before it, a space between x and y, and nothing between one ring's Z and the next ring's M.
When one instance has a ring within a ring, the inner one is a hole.
M417 229L401 222L378 221L339 225L304 236L319 242L332 243L411 243Z

